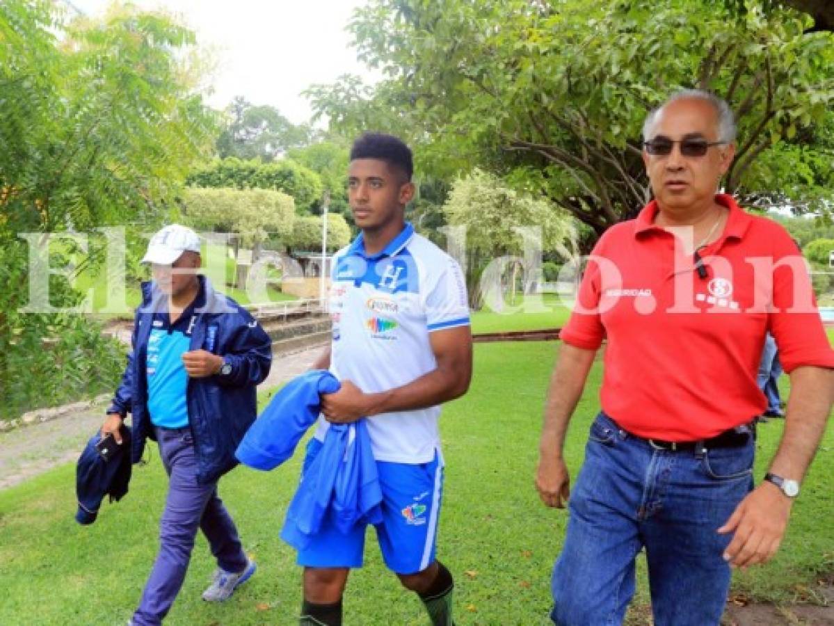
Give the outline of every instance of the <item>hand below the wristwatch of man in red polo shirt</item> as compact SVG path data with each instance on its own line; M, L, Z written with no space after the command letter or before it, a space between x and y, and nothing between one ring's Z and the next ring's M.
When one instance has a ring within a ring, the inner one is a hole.
M735 533L724 551L731 567L769 561L785 536L792 501L772 483L761 483L741 500L719 533Z

